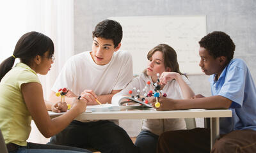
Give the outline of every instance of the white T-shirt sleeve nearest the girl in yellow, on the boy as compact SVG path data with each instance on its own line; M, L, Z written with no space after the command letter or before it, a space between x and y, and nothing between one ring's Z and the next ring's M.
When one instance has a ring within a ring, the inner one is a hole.
M54 85L52 86L52 91L58 92L59 89L67 87L72 89L74 76L76 75L76 64L73 59L68 59L65 66L61 69Z

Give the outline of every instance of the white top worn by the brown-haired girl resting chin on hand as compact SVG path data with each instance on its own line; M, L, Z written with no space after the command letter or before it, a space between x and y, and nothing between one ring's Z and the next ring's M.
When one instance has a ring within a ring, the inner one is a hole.
M186 78L184 75L182 75L182 78L186 82L186 84L190 84L188 78ZM139 89L141 91L140 95L143 95L143 88L148 81L152 82L152 79L144 73L142 73L140 77L134 78L132 82L127 85L127 87L125 87L124 90L118 92L113 96L112 104L118 105L119 99L122 98L123 95L129 94L129 91L132 90L134 87L136 87L136 90ZM150 84L146 92L148 93L148 91L150 90L154 91L154 86L152 84ZM176 80L172 80L168 82L168 84L164 85L163 92L167 94L167 98L184 99L180 86ZM184 119L143 119L142 129L150 131L155 135L160 135L164 131L186 129L186 122Z

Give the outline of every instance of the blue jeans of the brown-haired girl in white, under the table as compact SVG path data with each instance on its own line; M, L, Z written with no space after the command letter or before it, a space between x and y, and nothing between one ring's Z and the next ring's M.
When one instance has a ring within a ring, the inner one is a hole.
M142 130L136 138L135 145L140 148L140 152L155 153L157 147L158 135L150 131Z

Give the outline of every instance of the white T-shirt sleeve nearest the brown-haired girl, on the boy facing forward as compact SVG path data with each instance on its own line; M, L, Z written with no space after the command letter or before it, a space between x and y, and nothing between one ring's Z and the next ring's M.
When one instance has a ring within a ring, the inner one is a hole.
M122 51L124 52L124 51ZM129 84L132 80L132 57L129 52L126 52L123 57L121 58L122 66L118 75L118 78L116 80L116 84L113 87L113 90L120 90L124 89L124 87ZM125 60L126 59L126 60Z

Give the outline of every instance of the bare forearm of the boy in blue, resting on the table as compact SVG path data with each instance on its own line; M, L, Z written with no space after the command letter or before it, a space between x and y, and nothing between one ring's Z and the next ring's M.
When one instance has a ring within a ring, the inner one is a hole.
M196 99L177 99L175 101L175 109L191 109L191 108L204 108L204 109L222 109L229 108L232 101L223 96L210 96L206 98Z

